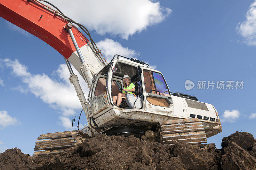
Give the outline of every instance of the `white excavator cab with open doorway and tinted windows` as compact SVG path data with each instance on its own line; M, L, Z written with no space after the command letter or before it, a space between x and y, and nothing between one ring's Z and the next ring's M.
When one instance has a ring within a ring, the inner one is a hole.
M162 73L148 68L148 64L144 62L120 55L115 55L96 76L95 83L92 85L91 99L106 92L109 103L116 106L112 97L122 93L123 77L126 74L131 78L131 83L135 85L135 92L125 95L120 108L166 113L171 111L172 97Z

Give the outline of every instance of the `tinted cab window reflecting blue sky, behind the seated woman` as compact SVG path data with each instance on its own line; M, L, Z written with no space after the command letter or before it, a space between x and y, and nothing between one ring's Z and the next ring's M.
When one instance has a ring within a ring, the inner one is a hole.
M143 70L145 90L147 93L160 94L164 96L170 96L167 89L167 85L163 76L160 73L156 73L149 70Z

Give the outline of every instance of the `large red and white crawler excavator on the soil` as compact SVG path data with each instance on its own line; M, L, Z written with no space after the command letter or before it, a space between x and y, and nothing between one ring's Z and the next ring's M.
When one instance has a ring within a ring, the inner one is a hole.
M83 142L84 137L100 133L142 137L150 131L156 141L172 145L179 142L205 144L206 138L222 131L218 112L212 104L198 101L195 96L170 92L163 74L143 61L114 55L107 63L88 29L50 2L1 0L0 16L63 55L70 83L83 108L80 116L84 111L88 122L79 130L79 116L77 130L40 135L34 155L60 153ZM70 64L88 85L87 100ZM124 75L131 78L135 91L126 93L117 106L112 96L122 93ZM75 119L72 126L74 122Z

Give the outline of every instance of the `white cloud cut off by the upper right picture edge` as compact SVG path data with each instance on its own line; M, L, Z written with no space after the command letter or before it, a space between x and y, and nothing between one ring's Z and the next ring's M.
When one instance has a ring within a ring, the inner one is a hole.
M250 9L246 13L246 20L239 22L236 29L237 33L244 38L244 43L256 45L256 1L250 5Z

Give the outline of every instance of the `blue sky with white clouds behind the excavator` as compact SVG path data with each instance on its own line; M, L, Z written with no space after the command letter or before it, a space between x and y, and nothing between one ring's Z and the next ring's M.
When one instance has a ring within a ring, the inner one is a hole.
M240 130L256 136L255 1L78 1L72 10L51 2L89 28L106 58L138 58L138 51L164 74L171 92L213 104L223 131L208 143L221 148L223 137ZM3 18L0 23L0 152L18 147L32 155L40 134L71 129L82 108L63 57ZM185 89L186 80L194 89ZM243 89L196 89L197 81L218 80L243 80ZM86 123L84 115L80 122Z

